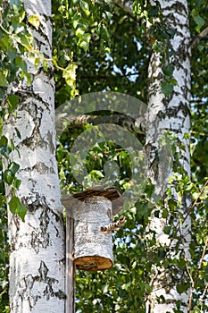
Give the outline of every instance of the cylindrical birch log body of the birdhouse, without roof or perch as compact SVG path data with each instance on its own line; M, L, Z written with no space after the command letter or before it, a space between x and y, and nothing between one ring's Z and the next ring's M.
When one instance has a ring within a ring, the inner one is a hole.
M79 269L99 270L112 266L112 233L101 227L111 222L112 202L104 197L78 201L74 213L74 263Z

